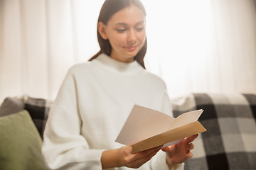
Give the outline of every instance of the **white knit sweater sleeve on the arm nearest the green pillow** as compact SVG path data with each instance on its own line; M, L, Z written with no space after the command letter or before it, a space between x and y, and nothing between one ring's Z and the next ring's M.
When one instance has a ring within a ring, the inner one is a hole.
M50 108L42 154L48 169L102 169L103 150L90 149L80 135L82 120L72 72L68 72Z

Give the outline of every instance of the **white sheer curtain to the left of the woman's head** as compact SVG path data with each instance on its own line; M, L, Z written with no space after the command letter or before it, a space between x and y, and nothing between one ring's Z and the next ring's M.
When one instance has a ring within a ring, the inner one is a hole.
M96 48L88 47L86 51L98 50L97 40L86 41L91 29L82 33L92 22L82 21L82 16L90 18L90 13L84 12L90 9L90 3L0 0L0 101L23 94L55 98L68 69L87 60L82 47L85 42ZM98 13L100 8L95 11ZM96 25L97 16L93 19Z

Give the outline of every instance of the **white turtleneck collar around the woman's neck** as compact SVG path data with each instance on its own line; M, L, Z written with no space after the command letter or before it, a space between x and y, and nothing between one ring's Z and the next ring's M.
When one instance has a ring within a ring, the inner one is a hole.
M95 64L100 65L112 72L120 72L125 74L137 74L142 72L144 68L137 62L119 62L112 59L110 56L105 55L104 53L100 54L96 59L92 60Z

